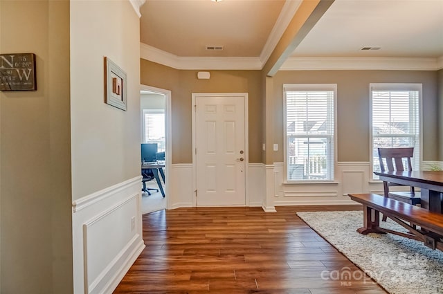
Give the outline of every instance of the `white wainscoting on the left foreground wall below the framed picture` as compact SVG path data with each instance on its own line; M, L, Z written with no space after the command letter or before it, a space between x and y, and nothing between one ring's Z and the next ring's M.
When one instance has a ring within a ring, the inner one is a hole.
M73 201L74 293L112 293L145 245L141 176Z

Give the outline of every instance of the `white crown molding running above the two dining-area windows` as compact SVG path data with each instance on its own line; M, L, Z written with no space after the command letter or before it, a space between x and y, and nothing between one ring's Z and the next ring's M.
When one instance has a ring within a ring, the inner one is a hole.
M280 68L280 71L436 71L442 68L442 66L443 57L289 57Z

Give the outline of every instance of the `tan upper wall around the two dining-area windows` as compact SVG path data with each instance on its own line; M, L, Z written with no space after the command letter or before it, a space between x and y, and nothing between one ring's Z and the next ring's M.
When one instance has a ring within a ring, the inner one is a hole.
M438 100L436 71L279 71L275 93L275 143L283 146L283 84L337 84L338 161L370 159L369 84L423 84L423 160L438 160ZM283 161L283 150L275 152Z

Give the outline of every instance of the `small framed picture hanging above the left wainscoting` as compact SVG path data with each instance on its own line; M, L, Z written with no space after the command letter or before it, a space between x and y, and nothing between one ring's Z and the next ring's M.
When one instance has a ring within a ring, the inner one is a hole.
M126 73L109 57L105 57L105 103L127 110Z

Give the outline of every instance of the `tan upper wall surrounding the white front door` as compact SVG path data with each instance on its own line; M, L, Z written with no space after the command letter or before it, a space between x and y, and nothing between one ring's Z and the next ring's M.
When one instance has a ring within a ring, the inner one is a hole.
M192 93L249 93L249 161L261 162L262 83L260 71L182 71L141 59L141 84L171 91L172 163L192 163Z

